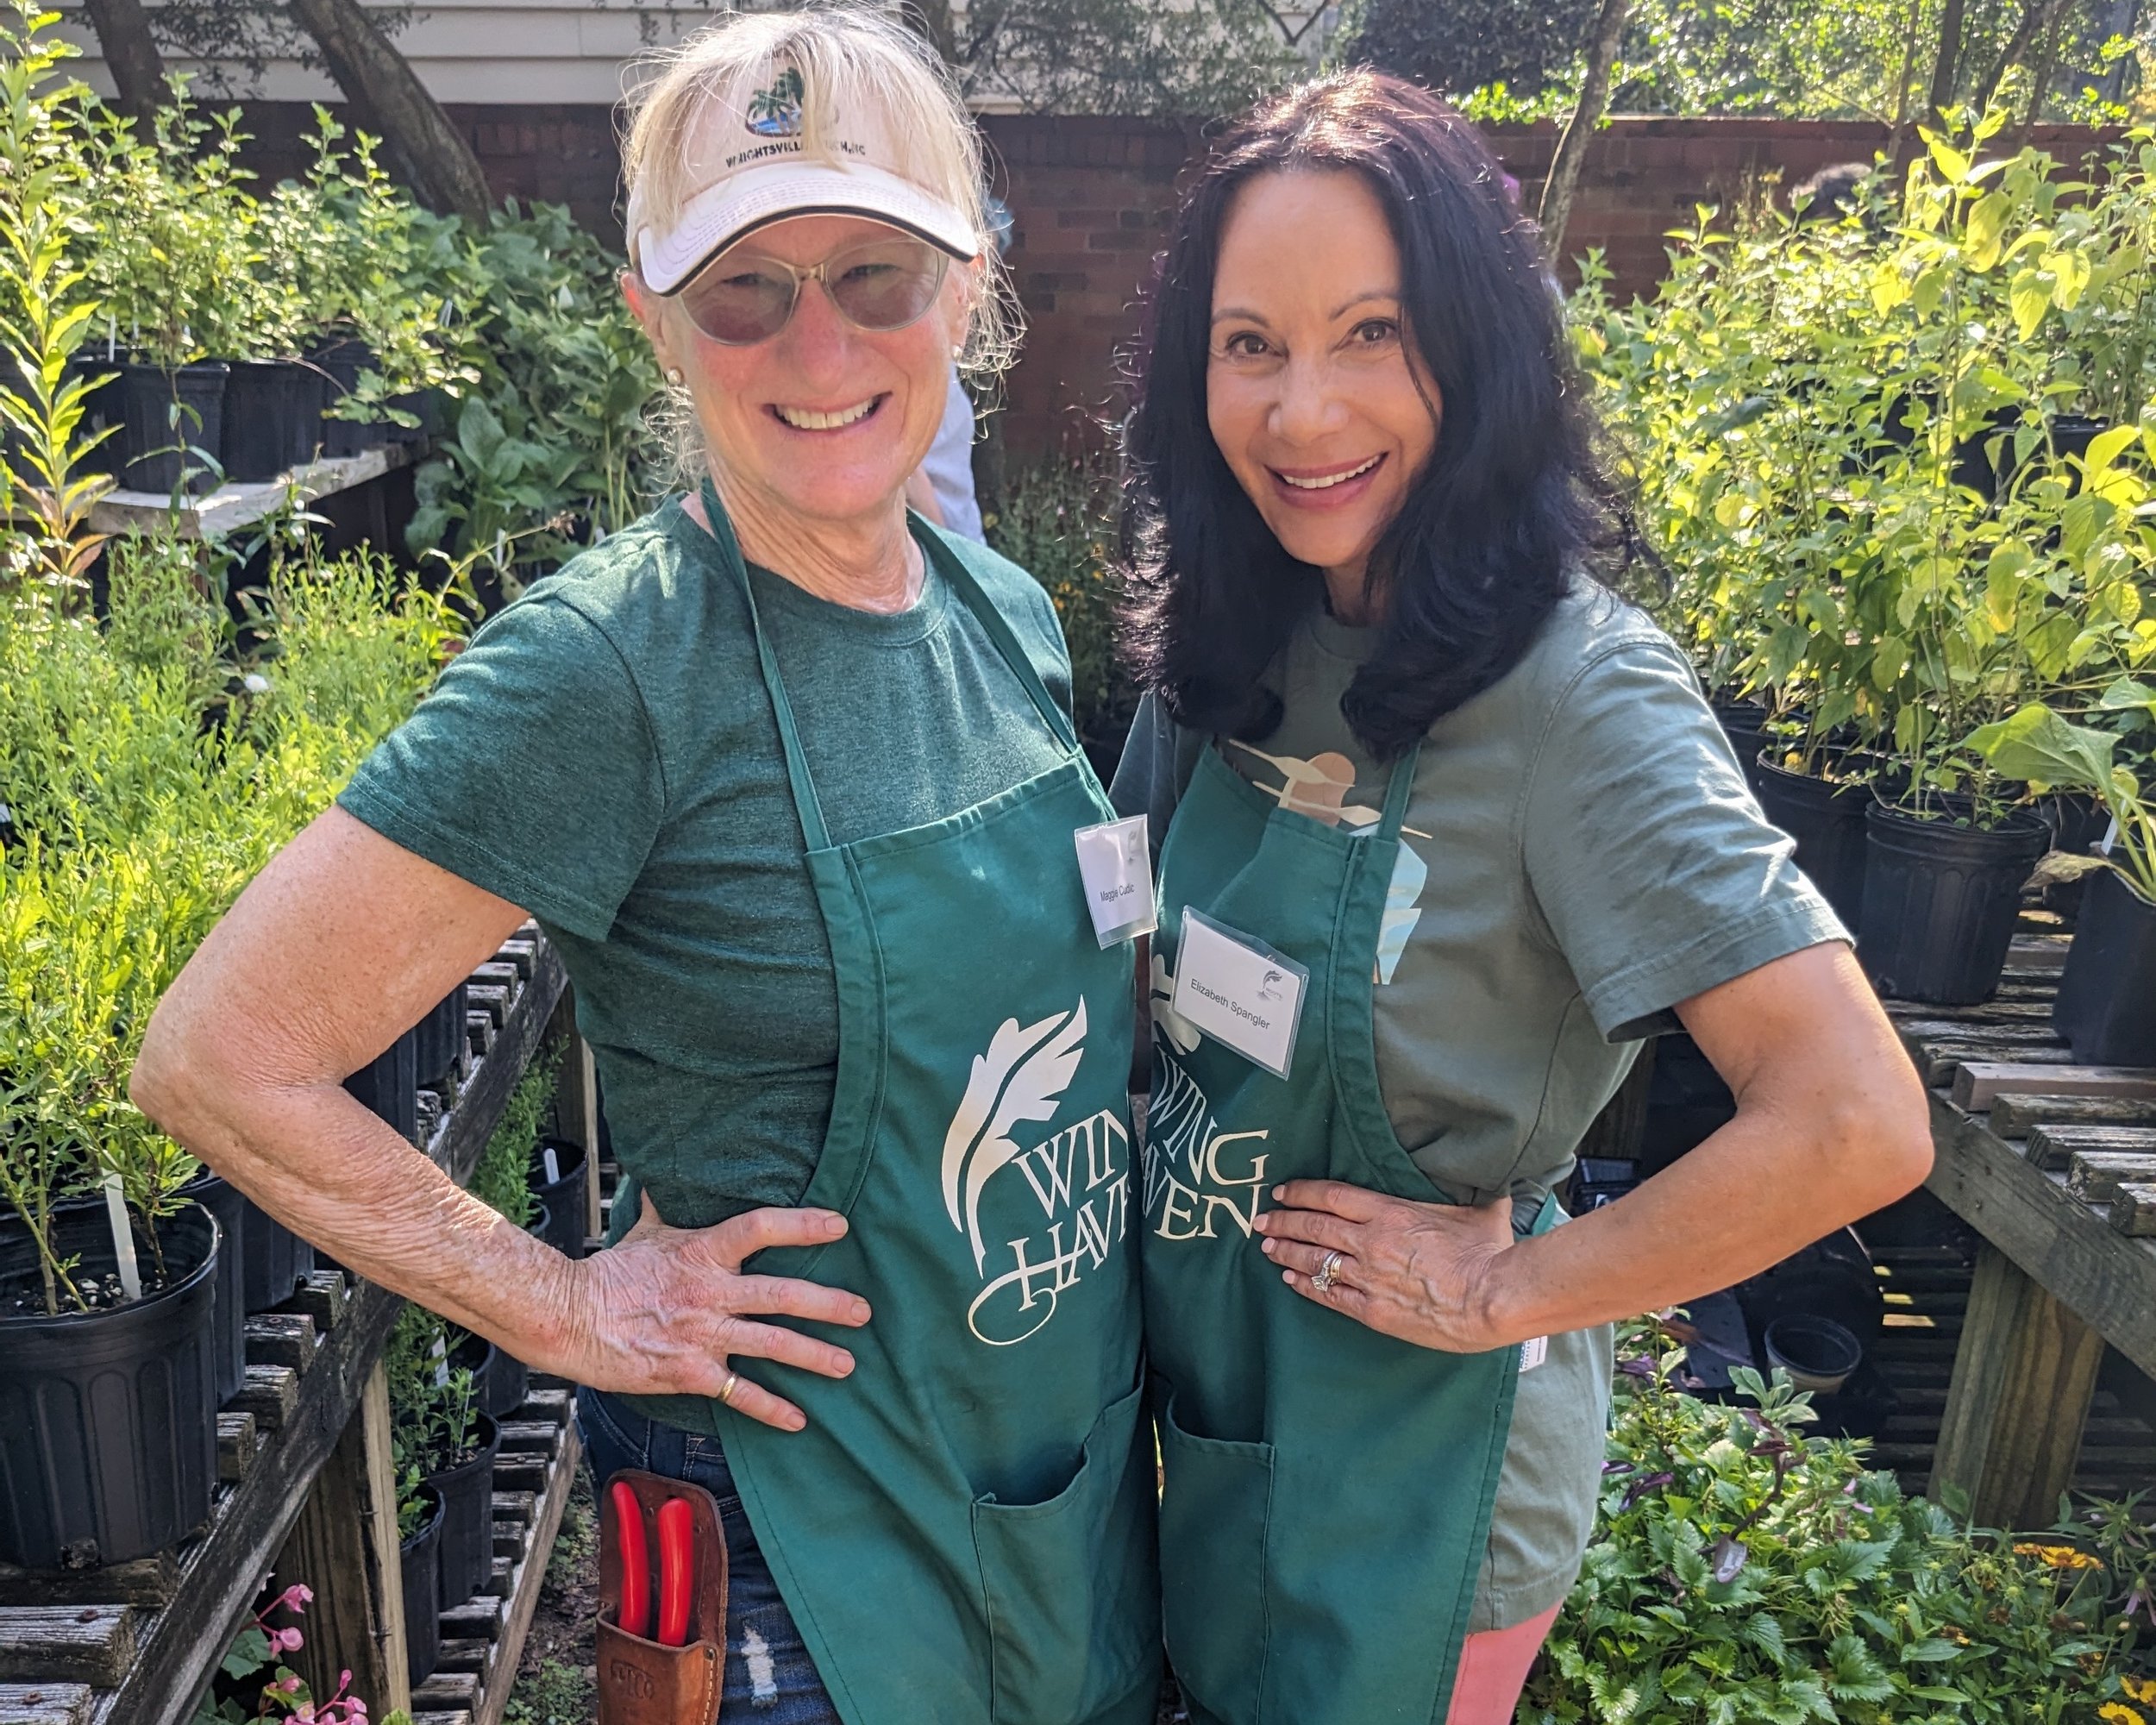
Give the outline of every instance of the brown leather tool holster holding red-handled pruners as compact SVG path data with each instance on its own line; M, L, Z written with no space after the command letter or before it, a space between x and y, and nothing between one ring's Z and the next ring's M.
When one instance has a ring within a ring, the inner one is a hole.
M683 1499L694 1516L696 1583L690 1591L688 1645L662 1647L621 1628L621 1529L612 1484L636 1492L651 1557L653 1626L660 1598L658 1516ZM599 1725L714 1725L727 1667L727 1537L718 1503L703 1486L623 1468L599 1486Z

